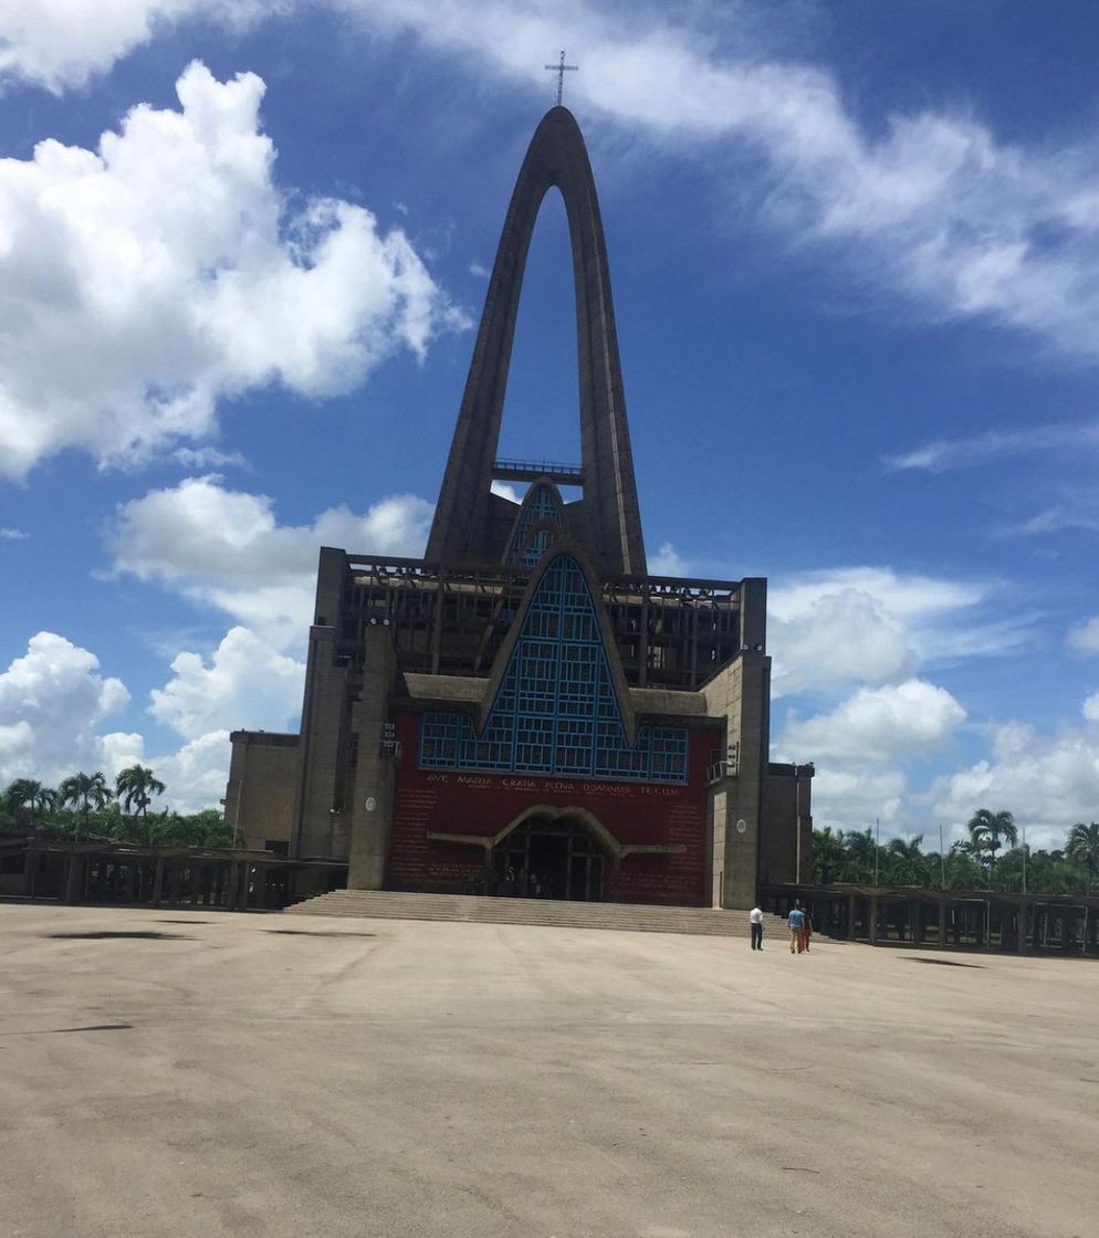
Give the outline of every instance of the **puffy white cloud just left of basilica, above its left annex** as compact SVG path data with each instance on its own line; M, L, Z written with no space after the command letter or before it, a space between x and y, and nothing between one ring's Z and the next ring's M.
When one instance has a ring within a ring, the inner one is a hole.
M209 661L182 652L172 678L153 688L149 712L188 740L223 729L285 730L296 724L303 662L271 649L248 628L231 628Z

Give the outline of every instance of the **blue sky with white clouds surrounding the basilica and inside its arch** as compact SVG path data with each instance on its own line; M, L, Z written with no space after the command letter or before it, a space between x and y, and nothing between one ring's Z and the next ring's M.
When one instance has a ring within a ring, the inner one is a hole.
M1099 813L1083 0L0 7L0 781L224 794L323 542L417 553L567 48L650 567L770 578L818 823ZM559 199L501 451L578 456Z

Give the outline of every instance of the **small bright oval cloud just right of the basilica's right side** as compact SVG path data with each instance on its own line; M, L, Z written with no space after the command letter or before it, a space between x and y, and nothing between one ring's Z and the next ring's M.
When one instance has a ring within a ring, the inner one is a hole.
M946 688L924 680L860 688L829 713L787 722L785 748L825 761L874 763L926 756L965 721Z

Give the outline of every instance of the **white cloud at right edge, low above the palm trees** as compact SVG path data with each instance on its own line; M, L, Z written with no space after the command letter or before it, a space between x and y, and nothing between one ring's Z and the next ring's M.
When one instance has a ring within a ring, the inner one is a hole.
M1089 698L1084 714L1099 722ZM1063 728L1042 735L1019 722L990 729L991 759L938 779L936 815L963 825L980 807L1007 807L1027 827L1032 846L1062 846L1077 821L1093 821L1099 803L1099 727Z

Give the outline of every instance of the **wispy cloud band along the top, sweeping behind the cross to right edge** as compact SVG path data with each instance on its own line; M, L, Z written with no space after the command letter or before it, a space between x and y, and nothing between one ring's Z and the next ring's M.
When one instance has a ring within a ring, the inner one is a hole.
M412 33L449 62L457 54L546 97L541 66L558 46L558 4L328 4L369 36ZM27 7L30 16L7 19L0 68L57 89L106 68L158 22L191 14L240 21L259 5L120 0L105 17L93 0ZM302 0L283 7L306 9ZM830 69L769 54L752 35L759 21L736 24L730 37L724 6L609 11L578 0L568 25L585 68L569 90L585 109L681 155L717 155L765 220L799 245L839 254L860 286L884 284L933 317L981 317L1099 357L1099 150L1090 136L1026 147L967 111L932 108L875 118L871 130L845 106Z

